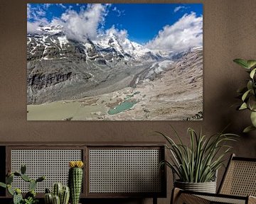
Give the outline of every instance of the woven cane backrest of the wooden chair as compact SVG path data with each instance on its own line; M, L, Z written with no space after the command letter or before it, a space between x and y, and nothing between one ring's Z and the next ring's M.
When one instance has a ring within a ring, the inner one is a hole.
M218 193L256 196L256 159L231 155Z

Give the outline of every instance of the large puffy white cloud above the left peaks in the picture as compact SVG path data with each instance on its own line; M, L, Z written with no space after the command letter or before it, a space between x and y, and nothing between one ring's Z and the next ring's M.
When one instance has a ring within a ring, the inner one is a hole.
M107 5L88 4L87 8L77 11L68 9L60 18L53 19L52 23L63 26L65 34L73 40L97 38L99 26L105 22Z

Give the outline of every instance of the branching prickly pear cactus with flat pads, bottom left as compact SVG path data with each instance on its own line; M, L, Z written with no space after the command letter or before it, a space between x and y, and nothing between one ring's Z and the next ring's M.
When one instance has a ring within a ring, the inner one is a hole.
M25 198L23 199L21 195L21 189L20 188L13 188L11 186L11 183L14 181L14 176L20 177L23 179L23 181L28 182L28 188L29 192L26 193ZM21 173L14 171L9 171L6 176L6 183L0 182L0 187L7 188L7 191L13 196L13 203L14 204L35 204L38 203L38 200L36 199L36 185L38 182L41 182L45 180L45 176L41 176L38 179L34 180L31 179L29 176L26 175L26 166L21 165Z

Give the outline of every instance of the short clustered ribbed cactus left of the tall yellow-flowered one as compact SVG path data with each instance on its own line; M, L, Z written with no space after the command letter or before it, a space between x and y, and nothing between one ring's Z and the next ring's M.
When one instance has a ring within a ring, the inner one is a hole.
M54 183L53 192L46 188L45 203L46 204L68 204L70 198L70 189L61 183Z

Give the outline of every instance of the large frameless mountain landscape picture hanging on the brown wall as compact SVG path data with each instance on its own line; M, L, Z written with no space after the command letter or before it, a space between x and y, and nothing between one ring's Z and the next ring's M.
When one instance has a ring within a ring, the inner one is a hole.
M203 120L203 4L27 4L27 120Z

